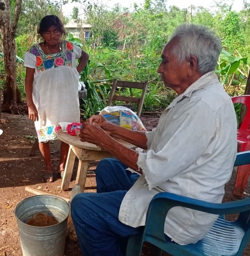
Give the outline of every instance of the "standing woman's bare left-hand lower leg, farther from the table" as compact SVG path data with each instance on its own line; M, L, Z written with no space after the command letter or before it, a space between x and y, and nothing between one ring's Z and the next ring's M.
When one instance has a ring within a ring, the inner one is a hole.
M53 182L53 166L50 158L49 142L39 142L39 149L45 161L45 172L47 175L44 177L45 182Z

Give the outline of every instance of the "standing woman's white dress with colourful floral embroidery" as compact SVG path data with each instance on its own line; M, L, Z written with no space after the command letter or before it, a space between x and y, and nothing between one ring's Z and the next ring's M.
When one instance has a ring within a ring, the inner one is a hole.
M35 68L32 97L38 110L35 122L39 142L57 139L59 122L79 122L79 73L76 59L81 48L62 41L62 50L45 54L40 45L33 45L25 53L24 66Z

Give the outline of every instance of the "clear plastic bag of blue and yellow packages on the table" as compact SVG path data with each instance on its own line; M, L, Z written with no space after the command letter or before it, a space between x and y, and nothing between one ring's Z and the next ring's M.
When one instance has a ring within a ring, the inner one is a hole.
M107 106L101 112L106 120L130 130L146 131L141 119L135 112L123 106Z

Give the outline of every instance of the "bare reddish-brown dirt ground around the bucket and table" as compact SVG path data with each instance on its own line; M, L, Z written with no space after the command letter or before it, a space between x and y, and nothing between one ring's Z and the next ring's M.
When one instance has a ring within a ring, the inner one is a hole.
M148 131L156 127L159 115L142 115L141 120ZM22 199L32 196L25 191L26 186L39 189L47 193L70 198L71 189L75 184L77 160L68 191L61 191L61 179L54 183L42 182L43 164L40 152L29 156L36 136L34 124L26 115L12 115L1 113L0 129L4 132L0 136L0 256L21 256L19 233L14 215L14 209ZM53 166L59 163L59 141L51 143ZM95 192L94 170L97 162L89 165L85 192ZM224 201L240 199L232 194L235 181L235 172L225 187ZM244 196L249 196L248 185ZM234 216L230 216L234 218ZM79 244L67 238L65 256L81 256ZM145 246L142 255L153 256L150 246ZM167 256L167 254L164 254ZM250 255L250 244L245 249L243 256Z

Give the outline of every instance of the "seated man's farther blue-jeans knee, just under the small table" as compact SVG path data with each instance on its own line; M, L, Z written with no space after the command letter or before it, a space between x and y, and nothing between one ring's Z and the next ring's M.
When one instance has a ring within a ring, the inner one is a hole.
M115 158L104 158L96 166L96 192L129 190L138 179L138 173L126 170L128 167Z

